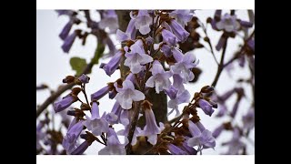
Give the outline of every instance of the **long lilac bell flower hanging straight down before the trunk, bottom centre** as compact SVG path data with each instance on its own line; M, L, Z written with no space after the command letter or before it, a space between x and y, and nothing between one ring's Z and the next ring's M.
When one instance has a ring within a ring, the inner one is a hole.
M146 136L147 141L152 145L156 145L157 134L165 128L162 122L159 123L159 127L156 125L156 118L151 108L145 109L146 126L137 136Z

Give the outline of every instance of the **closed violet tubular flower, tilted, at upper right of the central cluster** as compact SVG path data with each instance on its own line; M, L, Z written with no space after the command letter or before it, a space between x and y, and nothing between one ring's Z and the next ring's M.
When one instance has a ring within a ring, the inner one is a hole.
M170 22L170 26L173 34L178 38L179 42L185 42L188 36L190 35L186 29L178 24L175 19L172 19Z

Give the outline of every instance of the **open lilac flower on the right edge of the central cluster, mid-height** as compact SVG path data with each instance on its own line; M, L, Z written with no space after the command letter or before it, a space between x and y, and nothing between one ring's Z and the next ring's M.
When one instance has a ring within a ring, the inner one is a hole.
M182 54L182 53L181 53ZM199 60L196 60L196 57L187 52L184 56L181 56L180 53L173 55L177 61L177 63L171 67L174 74L179 74L183 77L183 82L186 83L194 79L194 74L191 71L193 67L196 67L199 63Z

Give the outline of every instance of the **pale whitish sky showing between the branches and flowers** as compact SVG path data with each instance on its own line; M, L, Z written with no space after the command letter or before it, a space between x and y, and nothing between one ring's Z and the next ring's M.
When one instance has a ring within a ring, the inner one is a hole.
M224 10L225 12L229 12ZM196 10L196 16L200 18L200 20L206 21L208 16L213 16L214 10ZM248 20L246 10L236 11L237 17L243 20ZM98 16L95 17L98 19ZM65 54L61 49L63 41L58 37L59 33L65 26L68 21L67 16L57 16L56 12L53 10L36 10L36 86L45 83L52 89L56 90L56 88L62 84L62 79L67 75L75 75L75 71L73 71L69 64L69 59L72 56L80 56L86 59L87 62L90 61L91 57L94 55L96 40L94 36L88 36L86 40L85 46L81 46L81 40L76 39L74 45L72 46L70 53ZM73 26L75 29L76 26ZM78 26L80 28L81 26ZM82 25L83 29L86 29L85 25ZM254 27L253 27L254 28ZM71 30L71 32L72 32ZM199 34L204 36L201 29L199 29ZM212 30L211 26L208 26L207 30L208 36L211 39L213 46L216 46L216 43L221 36L222 32L216 32ZM114 38L114 36L112 37ZM235 39L231 38L228 40L228 46L226 50L226 58L225 61L233 55L233 53L237 50L238 45L242 44L243 40L236 36ZM115 45L119 47L118 42L115 42ZM206 44L205 44L206 45ZM221 51L217 52L215 50L216 57L219 60ZM205 49L198 49L194 51L196 58L200 60L199 66L202 68L203 73L199 77L199 80L195 84L186 85L186 89L193 95L195 92L199 91L201 87L206 85L210 85L216 76L216 62L213 56L207 52ZM107 63L109 59L102 59L100 63ZM119 71L115 71L111 77L108 77L105 74L103 69L98 66L94 66L92 69L92 74L89 75L90 83L86 85L86 92L88 96L92 93L100 89L101 87L105 87L107 82L115 81L119 77ZM224 93L226 90L229 90L233 87L238 87L236 84L236 79L241 77L249 77L249 71L247 67L241 68L238 66L236 62L233 70L231 71L231 76L224 71L221 77L218 80L216 85L216 91L218 93ZM243 98L240 106L238 108L238 112L236 114L236 123L242 124L240 120L242 115L245 115L248 108L250 107L250 102L252 100L252 92L251 87L244 84L242 87L245 88L246 97ZM62 97L64 97L69 91L66 91ZM45 101L45 98L48 97L49 91L42 90L36 91L36 104L41 104ZM81 94L80 94L81 95ZM83 97L81 97L83 98ZM236 97L232 96L227 101L226 105L228 108L232 108L235 102ZM111 100L107 97L104 97L100 100L100 113L104 111L110 112L113 107L115 100ZM186 104L179 105L180 111ZM79 104L75 103L75 106L78 107ZM48 108L52 109L52 106ZM224 121L228 121L229 118L215 118L218 110L213 114L213 117L206 116L201 109L198 109L198 115L201 118L201 122L204 126L209 130L214 130L218 125L220 125ZM172 114L170 118L173 118ZM169 119L170 119L169 118ZM59 121L59 116L55 117L55 121ZM57 125L55 125L57 127ZM122 128L122 126L114 126L114 128ZM255 128L251 131L251 138L255 140ZM227 151L226 147L221 147L220 144L224 141L228 141L232 137L232 132L224 131L222 135L216 138L216 150L213 149L205 149L203 150L204 154L221 154ZM255 148L249 144L249 142L245 139L243 141L247 144L247 153L254 154ZM103 146L101 144L94 142L89 149L85 151L85 154L97 154L99 149L102 149Z

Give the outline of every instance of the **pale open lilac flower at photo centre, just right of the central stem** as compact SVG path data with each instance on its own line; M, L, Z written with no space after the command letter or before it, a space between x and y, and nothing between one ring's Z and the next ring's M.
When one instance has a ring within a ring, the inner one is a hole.
M147 79L146 87L156 86L156 93L159 94L160 91L163 91L171 86L171 81L169 78L172 77L172 73L170 71L165 72L164 67L158 60L154 61L151 72L153 76Z

